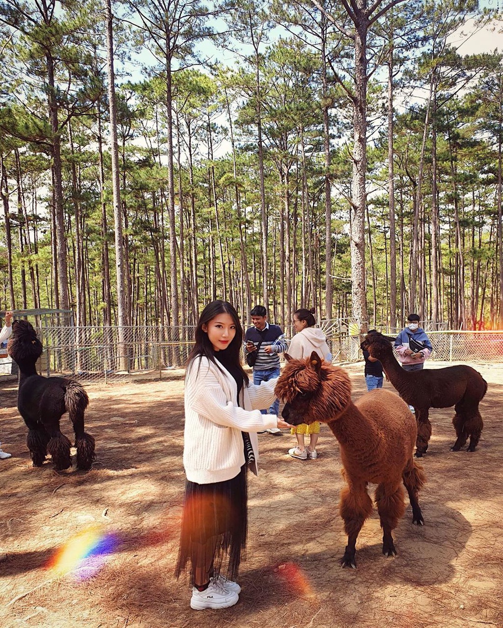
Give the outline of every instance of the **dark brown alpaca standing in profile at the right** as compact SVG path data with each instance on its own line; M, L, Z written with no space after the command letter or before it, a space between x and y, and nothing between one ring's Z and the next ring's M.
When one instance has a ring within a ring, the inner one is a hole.
M477 447L484 422L478 404L487 392L487 382L471 366L458 364L445 369L404 371L393 354L390 338L379 332L368 333L362 342L372 357L380 360L393 386L404 401L414 406L417 421L416 456L421 458L428 449L431 436L429 408L450 408L456 414L452 420L456 442L451 451L458 452L470 438L468 452Z

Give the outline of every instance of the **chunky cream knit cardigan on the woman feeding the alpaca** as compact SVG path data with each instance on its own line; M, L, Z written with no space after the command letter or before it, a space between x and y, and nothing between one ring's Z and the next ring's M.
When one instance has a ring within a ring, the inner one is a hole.
M220 367L220 368L219 368ZM257 432L274 428L277 417L262 414L275 399L277 379L260 386L243 386L238 406L236 381L220 364L196 357L185 378L184 467L187 480L197 484L236 477L245 463L243 436L250 433L258 473Z

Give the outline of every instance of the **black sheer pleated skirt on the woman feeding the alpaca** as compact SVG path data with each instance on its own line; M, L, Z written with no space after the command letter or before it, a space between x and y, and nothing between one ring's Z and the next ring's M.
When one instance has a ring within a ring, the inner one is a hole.
M236 477L213 484L185 484L184 513L175 578L190 568L191 583L198 566L207 564L207 548L214 543L210 574L218 576L225 558L229 580L238 576L241 551L246 547L248 527L247 467ZM189 563L189 565L187 565Z

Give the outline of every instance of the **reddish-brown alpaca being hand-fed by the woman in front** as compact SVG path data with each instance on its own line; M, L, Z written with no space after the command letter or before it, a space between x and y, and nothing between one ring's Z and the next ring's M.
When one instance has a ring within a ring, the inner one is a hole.
M382 389L353 403L346 372L320 360L316 352L304 360L287 354L285 358L288 364L275 388L285 401L282 416L292 425L323 421L340 443L347 486L341 492L339 510L348 535L341 565L356 568L358 533L372 512L368 482L377 484L382 553L395 555L391 533L405 512L402 482L412 506L412 523L424 524L417 494L425 479L412 455L417 430L409 408L394 393Z

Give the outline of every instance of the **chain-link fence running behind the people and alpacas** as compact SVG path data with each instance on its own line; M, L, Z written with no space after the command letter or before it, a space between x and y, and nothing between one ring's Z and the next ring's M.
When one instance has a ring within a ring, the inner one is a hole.
M334 364L362 360L362 336L355 322L323 321L321 327ZM162 377L169 369L183 367L192 348L195 327L68 326L41 327L37 331L44 347L38 364L41 374L74 375L83 381L108 383L124 381L132 375ZM442 330L429 331L428 335L433 345L431 360L503 362L503 330ZM10 362L10 358L0 360L0 373L16 372L11 371Z

